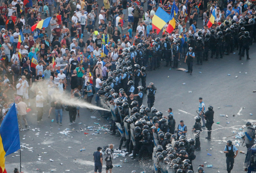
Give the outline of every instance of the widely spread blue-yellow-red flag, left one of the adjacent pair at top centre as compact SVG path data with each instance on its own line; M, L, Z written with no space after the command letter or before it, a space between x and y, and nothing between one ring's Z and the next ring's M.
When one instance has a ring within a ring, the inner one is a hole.
M156 13L152 18L152 30L156 29L158 34L168 21L169 14L162 8L157 8Z

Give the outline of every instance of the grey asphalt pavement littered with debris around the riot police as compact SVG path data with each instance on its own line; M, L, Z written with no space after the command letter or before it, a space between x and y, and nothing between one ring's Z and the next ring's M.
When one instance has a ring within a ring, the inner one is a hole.
M198 24L198 26L201 25ZM198 98L203 98L206 109L210 104L213 106L215 123L212 126L212 140L205 139L207 132L201 132L201 151L195 153L194 170L199 164L204 164L206 173L227 172L225 154L220 151L223 151L226 141L229 139L234 143L235 140L238 140L237 142L240 144L237 147L238 150L246 153L246 147L241 146L242 139L227 136L242 132L243 129L239 130L239 128L245 125L247 121L256 122L254 104L254 94L256 93L252 92L256 89L254 81L256 79L254 64L256 63L254 59L256 51L253 49L254 46L255 44L249 50L251 60L246 60L245 57L238 60L238 51L235 50L234 54L223 56L223 59L210 58L203 65L195 65L194 62L193 75L171 69L171 67L164 67L163 64L161 69L147 71L147 84L154 82L157 88L154 106L157 110L162 111L164 115L167 115L168 108L172 108L176 128L179 121L184 120L184 124L188 127L188 138L194 138L191 130L195 123L194 117L199 105ZM179 67L187 69L187 64L180 62ZM183 85L183 83L186 84ZM192 91L192 93L189 93L189 91ZM144 97L143 103L147 105L146 97ZM54 111L51 118L47 117L48 107L49 105L45 105L44 121L40 123L36 123L35 109L31 108L32 111L27 115L28 126L31 130L20 132L20 144L23 145L21 147L21 170L24 173L51 172L51 170L54 172L92 173L94 168L92 154L97 147L103 147L110 143L115 145L114 148L118 147L118 137L109 135L109 132L104 134L104 131L100 131L101 134L91 135L92 131L87 131L86 125L94 125L95 129L98 129L99 126L94 123L99 123L101 126L107 124L104 119L100 121L91 119L92 112L87 109L80 109L80 117L76 118L76 124L73 125L68 125L68 112L64 111L63 125L60 126L56 125L55 121L51 122L51 119L55 117ZM221 117L219 114L228 115L228 117ZM93 116L98 117L99 114L96 112ZM217 124L217 122L220 123ZM69 128L72 133L67 134L67 136L59 133L66 128ZM86 128L84 132L89 134L80 132L80 128L83 130ZM35 131L32 129L35 129ZM85 151L80 151L83 147ZM18 152L6 157L7 172L13 171L14 167L20 167L19 155ZM149 172L151 169L151 160L136 162L131 160L129 156L125 156L125 158L127 158L128 163L120 162L120 160L124 160L122 156L113 160L113 165L122 165L122 168L114 167L113 172L130 173L133 170ZM50 161L50 159L53 161ZM243 172L244 159L245 154L239 152L235 158L232 172ZM104 165L105 161L103 167ZM207 165L212 165L212 167L207 168ZM104 168L103 172L105 172Z

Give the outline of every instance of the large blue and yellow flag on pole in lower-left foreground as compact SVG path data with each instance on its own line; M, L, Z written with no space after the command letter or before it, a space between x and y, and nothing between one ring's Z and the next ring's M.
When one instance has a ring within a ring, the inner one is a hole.
M20 134L15 104L7 112L0 126L0 173L7 173L5 157L20 149Z

